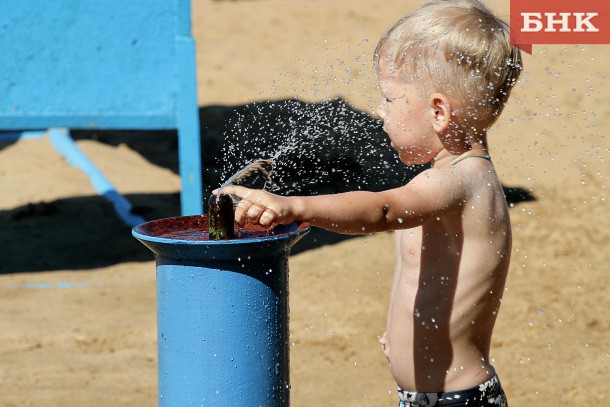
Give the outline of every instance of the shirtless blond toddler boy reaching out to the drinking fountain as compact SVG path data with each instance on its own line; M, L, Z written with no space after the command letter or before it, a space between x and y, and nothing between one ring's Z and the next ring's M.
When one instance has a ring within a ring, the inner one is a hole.
M511 226L487 130L521 72L509 27L477 0L434 0L381 38L378 113L406 165L431 167L382 192L283 197L238 186L236 223L308 221L340 233L396 231L380 343L400 406L507 406L489 363Z

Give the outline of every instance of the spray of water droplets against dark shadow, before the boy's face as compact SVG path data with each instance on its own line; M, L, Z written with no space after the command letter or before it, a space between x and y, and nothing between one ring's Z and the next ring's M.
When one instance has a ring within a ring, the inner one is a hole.
M400 162L380 121L341 99L252 103L235 108L225 126L222 173L271 157L264 188L274 193L382 190L404 185L421 170Z

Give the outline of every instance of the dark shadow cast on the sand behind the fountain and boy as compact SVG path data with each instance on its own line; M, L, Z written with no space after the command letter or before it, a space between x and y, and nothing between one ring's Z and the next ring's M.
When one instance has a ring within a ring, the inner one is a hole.
M274 192L285 195L379 191L403 185L423 169L401 164L380 123L341 99L319 104L283 100L206 106L200 109L200 120L204 202L212 189L241 166L274 155L278 146L287 144L292 147L275 154L274 169ZM174 131L73 130L72 136L127 144L151 163L178 171ZM0 149L8 144L2 143ZM522 188L505 187L505 192L513 205L535 199ZM134 212L148 220L180 212L177 193L125 196ZM350 238L314 229L292 253ZM35 202L0 211L0 245L0 273L5 274L92 269L152 259L101 196Z

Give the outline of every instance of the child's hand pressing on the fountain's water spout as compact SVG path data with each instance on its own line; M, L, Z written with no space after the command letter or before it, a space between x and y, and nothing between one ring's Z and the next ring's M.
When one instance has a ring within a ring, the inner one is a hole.
M294 199L289 197L236 185L226 186L222 192L241 198L235 208L235 223L239 226L248 222L268 228L274 223L285 225L297 219Z

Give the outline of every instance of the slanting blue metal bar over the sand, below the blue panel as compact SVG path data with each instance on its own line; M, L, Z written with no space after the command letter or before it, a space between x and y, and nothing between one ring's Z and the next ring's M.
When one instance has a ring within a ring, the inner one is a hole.
M83 171L91 181L93 188L112 203L114 210L121 220L128 226L136 226L145 222L141 216L131 213L132 206L127 199L119 194L114 186L81 151L70 137L69 130L63 128L49 129L49 138L53 146L70 164Z

